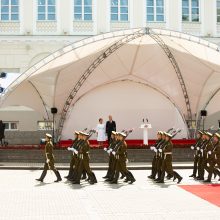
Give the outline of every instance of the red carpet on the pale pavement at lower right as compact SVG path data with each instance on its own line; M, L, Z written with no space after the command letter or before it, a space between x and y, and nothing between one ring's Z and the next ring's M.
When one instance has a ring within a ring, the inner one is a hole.
M183 185L179 187L220 207L220 184Z

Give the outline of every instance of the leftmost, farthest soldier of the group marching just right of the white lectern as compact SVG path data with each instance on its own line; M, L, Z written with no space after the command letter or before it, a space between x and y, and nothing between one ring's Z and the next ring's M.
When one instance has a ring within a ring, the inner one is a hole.
M155 150L153 161L152 161L151 175L148 176L149 179L155 179L156 174L157 174L157 159L158 159L157 150L160 147L160 144L163 142L162 135L163 135L162 131L157 132L156 144L150 148L151 150L155 150L155 149L156 150Z

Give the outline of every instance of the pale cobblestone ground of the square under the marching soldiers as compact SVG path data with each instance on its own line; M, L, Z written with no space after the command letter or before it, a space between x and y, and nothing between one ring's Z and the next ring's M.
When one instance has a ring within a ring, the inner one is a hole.
M178 170L183 185L198 184L190 170ZM35 178L40 170L0 170L0 219L219 219L220 208L179 188L171 180L155 184L150 171L132 171L137 181L110 185L95 171L98 184L54 183L48 173L44 183ZM64 176L67 171L61 171Z

